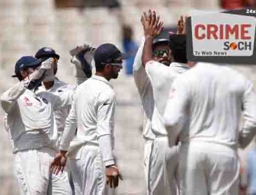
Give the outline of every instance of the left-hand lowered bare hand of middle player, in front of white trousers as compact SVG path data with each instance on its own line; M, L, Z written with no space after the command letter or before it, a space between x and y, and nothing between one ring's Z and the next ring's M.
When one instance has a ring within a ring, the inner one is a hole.
M61 171L61 173L63 173L63 170L67 163L67 157L65 156L65 153L67 153L67 152L59 151L57 153L57 155L55 155L55 159L53 159L53 161L51 162L51 165L50 165L50 171L53 174L58 175L59 171Z

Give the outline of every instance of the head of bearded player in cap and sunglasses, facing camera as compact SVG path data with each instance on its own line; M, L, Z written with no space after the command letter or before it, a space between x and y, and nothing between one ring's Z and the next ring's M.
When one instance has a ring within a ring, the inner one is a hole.
M153 40L153 58L166 66L172 62L169 39L163 32Z

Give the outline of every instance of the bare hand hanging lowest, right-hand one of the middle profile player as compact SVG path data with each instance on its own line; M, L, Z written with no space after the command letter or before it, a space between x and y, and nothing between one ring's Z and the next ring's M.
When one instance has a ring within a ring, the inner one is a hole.
M117 166L112 165L110 167L106 167L106 185L110 186L110 188L117 188L119 185L119 178L123 180L121 173L119 173L119 169Z

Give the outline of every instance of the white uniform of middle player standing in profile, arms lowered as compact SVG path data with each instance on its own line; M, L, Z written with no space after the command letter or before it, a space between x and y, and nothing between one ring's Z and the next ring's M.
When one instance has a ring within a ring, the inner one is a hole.
M77 87L60 144L68 151L75 194L105 192L105 166L115 163L114 114L115 92L104 77L93 75Z

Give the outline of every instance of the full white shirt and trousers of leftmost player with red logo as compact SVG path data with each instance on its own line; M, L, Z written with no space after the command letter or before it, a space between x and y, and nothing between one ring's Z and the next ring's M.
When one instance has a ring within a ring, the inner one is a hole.
M58 97L46 91L34 93L25 89L23 82L1 95L22 194L71 193L67 176L51 176L49 166L57 151L53 139L53 112L70 105L72 95Z

